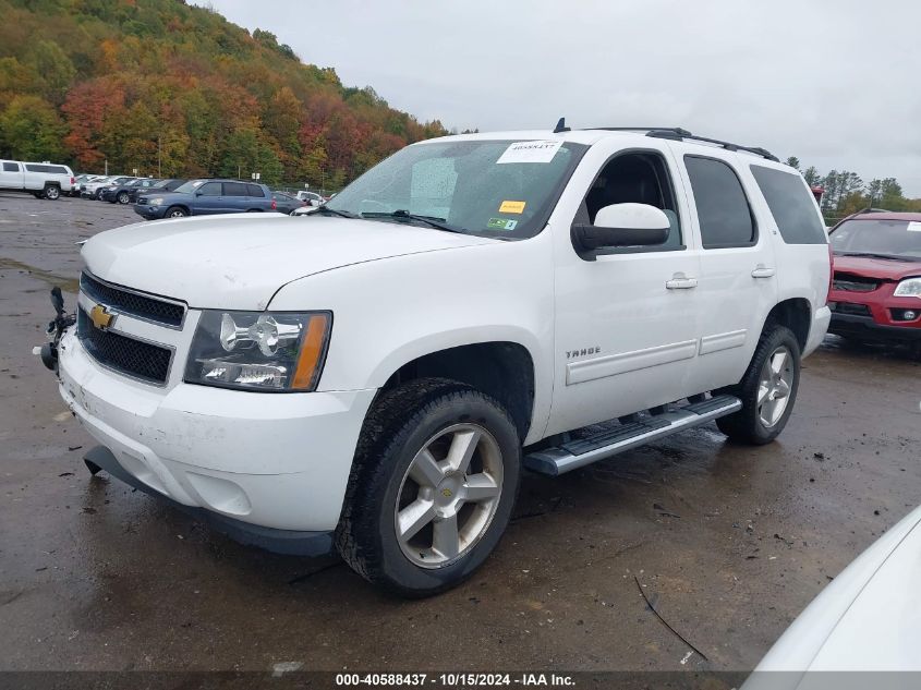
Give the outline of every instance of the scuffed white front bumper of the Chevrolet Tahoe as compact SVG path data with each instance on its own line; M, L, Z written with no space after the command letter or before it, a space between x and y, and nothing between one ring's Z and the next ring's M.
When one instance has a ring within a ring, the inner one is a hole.
M336 528L374 390L156 388L102 368L74 331L59 347L61 396L125 473L183 506L241 523Z

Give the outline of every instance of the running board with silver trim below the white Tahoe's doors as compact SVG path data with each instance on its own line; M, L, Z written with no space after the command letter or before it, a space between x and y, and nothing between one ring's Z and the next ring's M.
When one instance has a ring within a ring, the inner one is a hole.
M621 424L587 438L579 438L553 448L543 448L524 456L524 467L541 474L556 476L585 467L596 460L671 436L740 410L742 401L735 396L715 396L642 421Z

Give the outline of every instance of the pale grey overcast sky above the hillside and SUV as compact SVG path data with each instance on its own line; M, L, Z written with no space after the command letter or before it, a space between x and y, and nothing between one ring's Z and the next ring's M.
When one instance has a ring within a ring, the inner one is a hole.
M684 126L921 196L910 0L209 4L449 129Z

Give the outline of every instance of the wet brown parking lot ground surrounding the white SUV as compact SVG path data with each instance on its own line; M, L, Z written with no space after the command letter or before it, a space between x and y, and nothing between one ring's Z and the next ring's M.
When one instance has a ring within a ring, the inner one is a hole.
M777 443L708 426L529 475L496 553L443 596L240 546L90 479L93 441L31 353L49 288L73 304L74 242L136 218L0 194L0 669L750 669L921 501L921 363L829 337Z

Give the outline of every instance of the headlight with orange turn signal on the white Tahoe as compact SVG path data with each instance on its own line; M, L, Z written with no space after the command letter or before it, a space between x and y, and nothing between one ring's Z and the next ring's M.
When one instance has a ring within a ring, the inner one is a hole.
M205 311L192 339L185 382L244 390L314 390L332 314Z

